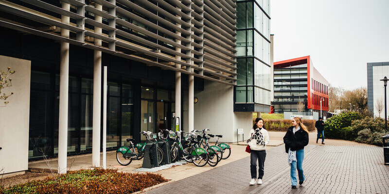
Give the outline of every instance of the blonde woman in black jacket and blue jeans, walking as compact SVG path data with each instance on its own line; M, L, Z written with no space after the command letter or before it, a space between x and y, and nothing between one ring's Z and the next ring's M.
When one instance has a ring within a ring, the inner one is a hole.
M292 180L292 189L297 188L296 167L299 172L299 184L305 180L302 170L302 161L304 160L304 147L308 145L309 136L307 127L301 122L300 117L292 119L292 127L286 131L283 137L285 151L288 153L288 163L290 165L290 179Z

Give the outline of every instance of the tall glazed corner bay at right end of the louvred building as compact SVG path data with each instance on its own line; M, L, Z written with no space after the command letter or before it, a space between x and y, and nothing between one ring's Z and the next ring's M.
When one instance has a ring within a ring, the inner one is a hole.
M236 103L270 105L269 0L237 1Z

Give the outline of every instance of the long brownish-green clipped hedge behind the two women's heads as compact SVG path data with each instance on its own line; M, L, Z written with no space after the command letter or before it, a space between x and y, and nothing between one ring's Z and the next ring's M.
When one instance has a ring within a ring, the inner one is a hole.
M308 131L315 130L315 122L316 120L302 120ZM264 119L264 128L266 130L286 131L290 126L292 126L291 119Z

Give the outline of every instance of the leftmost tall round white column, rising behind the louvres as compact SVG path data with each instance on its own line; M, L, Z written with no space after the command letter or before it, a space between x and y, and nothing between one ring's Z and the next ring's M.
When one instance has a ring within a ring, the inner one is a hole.
M62 9L70 10L70 4L62 2ZM61 16L69 24L68 16ZM69 38L69 30L61 29L61 36ZM58 123L58 173L67 171L68 156L68 96L69 96L69 43L61 42L59 70L59 123Z

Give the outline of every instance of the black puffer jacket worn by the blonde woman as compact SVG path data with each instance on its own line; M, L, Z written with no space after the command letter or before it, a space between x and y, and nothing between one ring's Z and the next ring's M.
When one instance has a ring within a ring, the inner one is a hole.
M293 134L293 126L288 128L285 136L283 137L286 153L288 153L289 148L292 151L304 149L304 146L308 145L308 142L308 133L305 130L300 129Z

